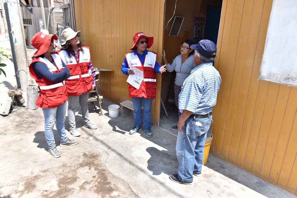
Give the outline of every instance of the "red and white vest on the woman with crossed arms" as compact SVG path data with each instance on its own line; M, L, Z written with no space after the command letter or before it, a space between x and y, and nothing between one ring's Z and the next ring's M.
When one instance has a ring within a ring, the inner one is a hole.
M45 77L39 79L34 72L32 64L34 62L42 62L48 66L48 69L53 73L58 73L63 70L62 60L58 54L51 54L56 66L53 65L46 58L34 58L29 66L29 71L32 78L35 79L39 88L39 96L36 101L36 106L41 108L55 108L66 102L68 99L67 87L61 82L53 82Z

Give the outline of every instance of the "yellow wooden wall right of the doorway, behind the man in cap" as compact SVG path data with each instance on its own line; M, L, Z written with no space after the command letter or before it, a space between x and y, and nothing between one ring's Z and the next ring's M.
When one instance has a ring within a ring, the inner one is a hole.
M258 80L271 5L223 1L210 152L297 195L297 88Z

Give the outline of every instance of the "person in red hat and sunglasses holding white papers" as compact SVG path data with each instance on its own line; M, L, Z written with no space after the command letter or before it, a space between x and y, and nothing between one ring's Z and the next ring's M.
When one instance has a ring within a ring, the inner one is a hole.
M143 106L143 127L147 137L152 137L151 132L151 104L156 97L156 79L157 73L165 72L165 66L159 66L157 54L148 51L153 45L154 38L147 37L143 32L138 32L133 37L134 45L130 53L126 54L121 67L121 71L125 75L135 74L131 66L143 71L143 80L137 89L128 83L129 97L133 103L134 127L129 134L133 135L141 130L141 107Z

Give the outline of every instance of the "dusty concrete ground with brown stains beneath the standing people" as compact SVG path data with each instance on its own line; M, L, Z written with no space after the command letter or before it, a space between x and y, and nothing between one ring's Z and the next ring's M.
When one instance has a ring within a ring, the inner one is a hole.
M0 46L10 48L4 35ZM0 96L14 87L15 75L11 59L5 59L0 75ZM26 99L26 92L23 92ZM0 97L0 99L1 99ZM61 147L54 128L55 141L62 156L53 158L45 141L42 110L16 108L8 116L0 116L0 197L288 197L295 195L267 183L214 156L195 177L193 185L174 183L168 177L176 174L176 111L170 119L160 120L160 128L152 127L154 136L142 131L129 135L133 114L110 118L103 99L104 115L98 114L98 103L89 105L90 120L98 128L83 127L80 109L76 122L78 145ZM26 103L25 103L26 105Z

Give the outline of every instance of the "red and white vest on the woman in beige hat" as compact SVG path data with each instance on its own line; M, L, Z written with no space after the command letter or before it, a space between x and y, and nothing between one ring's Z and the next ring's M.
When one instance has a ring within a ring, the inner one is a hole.
M72 54L69 57L66 50L58 51L71 74L65 80L69 96L79 96L92 90L92 70L88 69L91 61L90 48L83 46L83 51L84 53L79 50L79 63Z

